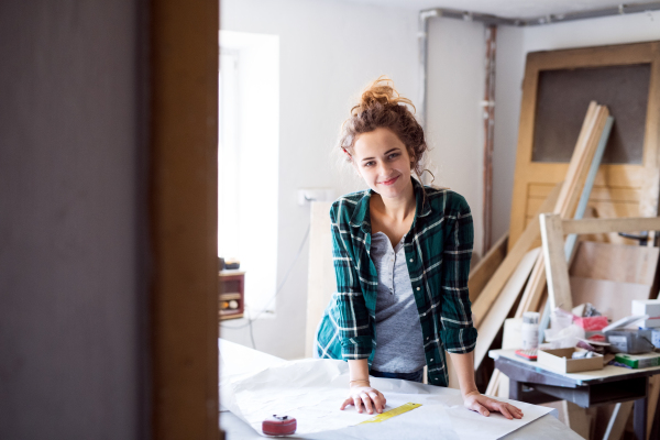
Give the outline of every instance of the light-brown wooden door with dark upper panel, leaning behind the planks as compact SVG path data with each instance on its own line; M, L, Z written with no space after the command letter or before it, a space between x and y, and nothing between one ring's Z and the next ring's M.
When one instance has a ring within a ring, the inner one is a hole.
M590 206L597 217L650 217L658 213L659 172L658 150L660 147L660 42L626 44L615 46L585 47L553 52L537 52L527 56L525 80L522 84L522 102L518 131L516 170L514 175L514 193L512 201L509 250L513 249L526 226L534 219L534 212L557 183L563 180L569 168L568 163L544 162L536 157L535 140L538 141L539 123L543 117L542 89L543 78L549 73L565 70L578 72L622 66L649 66L649 82L646 108L639 114L646 116L641 127L642 146L639 163L605 163L596 176ZM594 70L594 72L595 72ZM623 78L625 80L625 78ZM622 85L620 87L631 87ZM645 85L646 87L646 85ZM565 90L565 94L571 94ZM626 96L626 94L619 94ZM592 99L598 99L594 96ZM613 98L614 99L614 98ZM565 106L571 106L571 99ZM613 116L615 122L613 142L622 138L617 127L623 125L626 114L617 114L616 103ZM630 105L635 105L631 102ZM645 111L646 110L646 111ZM620 113L620 112L619 112ZM540 117L539 117L540 114ZM620 117L620 118L619 118ZM541 124L542 128L542 124ZM537 142L538 143L538 142ZM566 145L565 147L571 147ZM609 145L608 145L609 146ZM557 146L560 147L559 145ZM606 150L606 155L608 151ZM537 154L538 156L538 154ZM632 161L636 162L636 161ZM624 239L609 235L609 241L624 242ZM628 241L629 244L632 244ZM540 243L535 243L540 245Z

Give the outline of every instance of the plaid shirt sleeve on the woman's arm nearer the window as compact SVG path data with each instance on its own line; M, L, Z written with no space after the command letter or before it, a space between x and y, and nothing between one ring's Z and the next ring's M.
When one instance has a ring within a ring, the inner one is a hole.
M337 278L334 309L341 353L345 360L367 359L372 352L373 332L369 310L362 295L359 273L354 266L351 229L341 221L341 204L330 209L332 222L332 260Z

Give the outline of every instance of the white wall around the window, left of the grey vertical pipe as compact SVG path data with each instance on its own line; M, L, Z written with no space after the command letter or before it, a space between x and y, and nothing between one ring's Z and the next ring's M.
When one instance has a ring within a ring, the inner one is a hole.
M223 30L279 35L279 232L272 262L279 282L309 224L309 207L297 205L296 190L364 187L350 172L340 173L330 155L355 97L385 74L403 96L417 98L417 12L320 0L226 0L221 7ZM264 221L272 216L264 212ZM254 322L258 350L304 356L307 261L306 246L277 297L275 317ZM222 337L250 345L246 328L231 329L242 323L226 321Z

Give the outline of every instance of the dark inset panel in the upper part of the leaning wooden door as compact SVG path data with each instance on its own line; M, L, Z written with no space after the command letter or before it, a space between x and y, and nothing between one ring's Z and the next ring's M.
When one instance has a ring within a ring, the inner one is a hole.
M598 66L539 73L534 162L569 162L590 101L615 118L604 164L641 164L651 65Z

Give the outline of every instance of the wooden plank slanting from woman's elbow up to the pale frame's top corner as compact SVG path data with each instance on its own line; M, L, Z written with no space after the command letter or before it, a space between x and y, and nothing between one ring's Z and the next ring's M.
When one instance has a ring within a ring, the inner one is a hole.
M556 205L557 198L559 197L560 185L556 186L554 190L548 196L547 204L542 206L542 209L550 209ZM474 315L474 327L479 328L479 324L487 315L488 310L493 306L493 302L497 299L497 296L502 292L506 282L514 273L518 263L522 260L527 251L529 251L531 243L540 237L540 229L538 218L532 221L526 229L516 245L509 251L507 256L504 258L495 274L483 292L476 298L472 305L472 314Z

